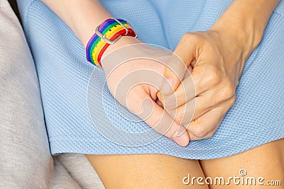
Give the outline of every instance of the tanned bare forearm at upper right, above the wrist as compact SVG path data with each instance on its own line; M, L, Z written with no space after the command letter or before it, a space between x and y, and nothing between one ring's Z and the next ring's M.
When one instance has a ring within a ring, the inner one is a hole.
M280 0L235 0L212 26L235 35L249 54L261 41L263 31Z

